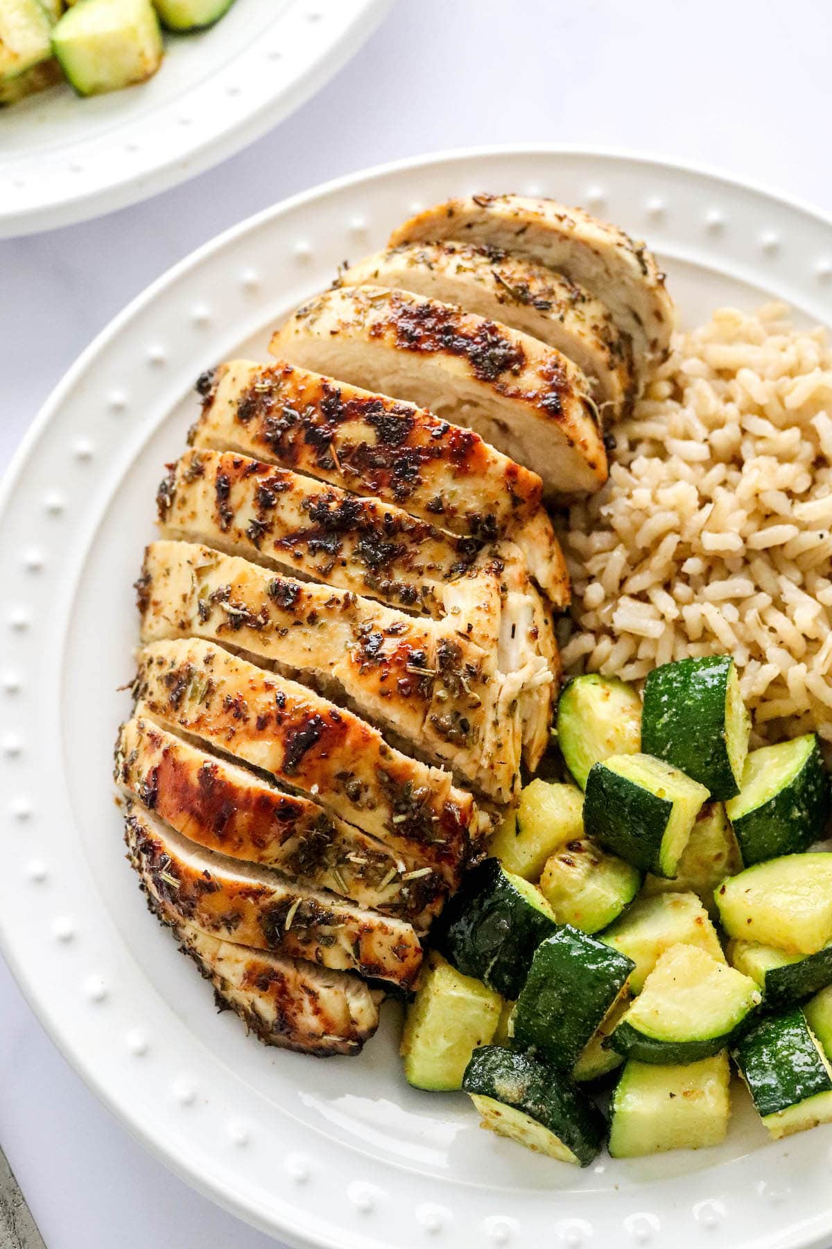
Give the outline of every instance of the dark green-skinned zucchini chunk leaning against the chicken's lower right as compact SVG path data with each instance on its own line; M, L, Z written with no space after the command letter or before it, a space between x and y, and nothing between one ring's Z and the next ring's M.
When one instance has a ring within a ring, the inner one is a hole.
M467 873L433 933L435 947L459 972L516 998L535 949L556 928L540 891L486 858Z

